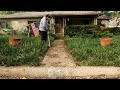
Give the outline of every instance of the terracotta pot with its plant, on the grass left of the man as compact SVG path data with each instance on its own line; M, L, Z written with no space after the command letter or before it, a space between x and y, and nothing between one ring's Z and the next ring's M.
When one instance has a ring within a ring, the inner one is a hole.
M19 43L20 43L20 38L18 37L17 31L12 30L11 36L9 37L9 45L15 47L19 45Z

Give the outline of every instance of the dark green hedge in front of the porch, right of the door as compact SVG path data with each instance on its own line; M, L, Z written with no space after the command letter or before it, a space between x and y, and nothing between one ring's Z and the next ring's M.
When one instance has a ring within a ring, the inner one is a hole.
M65 35L81 36L81 37L112 37L113 35L120 35L120 28L106 28L100 30L99 25L68 25L65 27Z

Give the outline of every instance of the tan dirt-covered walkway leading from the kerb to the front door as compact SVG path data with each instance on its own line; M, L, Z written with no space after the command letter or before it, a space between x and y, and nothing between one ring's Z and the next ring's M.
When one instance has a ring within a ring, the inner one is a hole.
M58 39L52 43L52 47L49 48L44 60L42 62L44 66L50 67L75 67L73 57L68 52L67 46L64 40Z

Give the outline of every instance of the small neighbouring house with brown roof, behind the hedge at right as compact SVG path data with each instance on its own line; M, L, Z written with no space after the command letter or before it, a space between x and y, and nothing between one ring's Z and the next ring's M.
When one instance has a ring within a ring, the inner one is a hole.
M100 21L102 24L105 24L105 27L109 27L109 20L111 19L110 16L107 15L101 15L98 18L98 21Z

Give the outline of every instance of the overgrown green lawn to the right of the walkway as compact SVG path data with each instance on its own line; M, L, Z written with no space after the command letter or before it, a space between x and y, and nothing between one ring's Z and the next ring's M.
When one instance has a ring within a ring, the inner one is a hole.
M71 54L80 66L120 66L120 36L113 36L112 45L102 47L99 38L65 38Z

